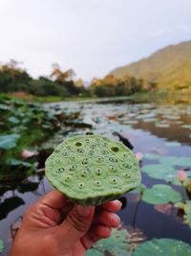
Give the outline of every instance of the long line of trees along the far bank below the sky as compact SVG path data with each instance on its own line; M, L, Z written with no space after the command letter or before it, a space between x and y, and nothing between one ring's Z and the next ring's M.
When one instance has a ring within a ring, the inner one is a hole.
M143 81L126 76L117 79L113 75L104 79L93 79L91 85L85 88L82 80L74 81L74 70L62 71L58 64L53 64L49 77L39 77L34 80L19 63L12 60L0 66L0 92L25 92L38 97L113 97L127 96L142 90ZM153 88L153 85L151 85Z

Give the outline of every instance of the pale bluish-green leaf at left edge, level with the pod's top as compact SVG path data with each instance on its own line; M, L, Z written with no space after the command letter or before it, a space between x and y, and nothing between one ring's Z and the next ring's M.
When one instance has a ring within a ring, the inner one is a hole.
M9 134L0 136L0 149L11 150L16 147L16 142L20 138L19 134Z

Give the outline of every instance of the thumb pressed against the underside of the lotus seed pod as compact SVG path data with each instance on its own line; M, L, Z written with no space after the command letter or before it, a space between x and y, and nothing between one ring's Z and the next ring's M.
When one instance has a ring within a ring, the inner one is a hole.
M90 228L95 213L94 206L75 205L65 221L60 224L59 234L65 240L67 248L71 248Z

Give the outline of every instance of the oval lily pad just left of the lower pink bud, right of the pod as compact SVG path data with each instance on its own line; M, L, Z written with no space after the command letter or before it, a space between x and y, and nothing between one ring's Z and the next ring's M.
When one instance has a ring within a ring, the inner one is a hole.
M174 178L177 176L176 169L168 165L145 165L141 170L150 177L164 179L167 182L174 180Z

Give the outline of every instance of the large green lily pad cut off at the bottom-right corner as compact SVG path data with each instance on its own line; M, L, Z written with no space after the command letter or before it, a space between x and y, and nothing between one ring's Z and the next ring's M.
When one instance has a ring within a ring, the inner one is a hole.
M138 245L133 256L190 256L191 246L175 239L153 239Z

